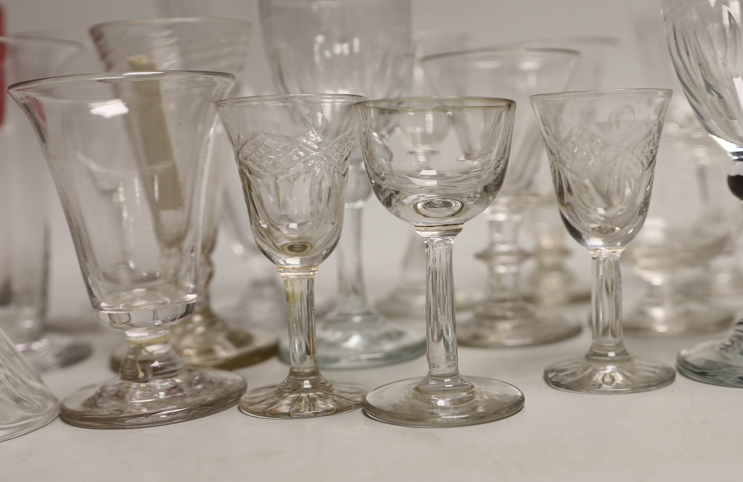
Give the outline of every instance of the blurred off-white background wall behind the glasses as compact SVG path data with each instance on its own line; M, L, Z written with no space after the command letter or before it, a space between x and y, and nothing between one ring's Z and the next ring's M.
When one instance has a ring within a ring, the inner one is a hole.
M254 48L247 80L256 93L271 93L269 73L262 55L256 0L215 0L201 4L189 1L213 16L241 17L254 23ZM3 3L7 33L74 28L80 29L82 34L82 30L99 22L159 16L151 0L4 0ZM615 36L621 44L606 65L604 88L667 86L647 85L644 80L646 76L640 68L638 56L638 49L643 46L635 40L633 27L637 19L655 16L660 22L660 7L655 0L414 0L413 3L415 29L466 32L470 35L472 47L561 36ZM366 279L374 298L391 286L391 276L397 273L409 227L389 215L373 198L368 206L364 250ZM53 236L52 315L65 318L80 313L81 306L88 302L59 209L55 215ZM473 253L484 247L485 238L481 218L467 224L459 236L455 247L455 276L459 290L481 292L485 271L473 259ZM573 241L569 243L577 252L577 268L588 277L586 253ZM229 259L225 244L220 253L225 266L221 273L240 269L239 263ZM216 276L215 287L224 293L229 292L230 286L220 284L220 271ZM334 282L331 258L321 270L318 290L321 294L327 293L334 289ZM234 293L233 290L230 296ZM219 296L216 293L215 297Z

